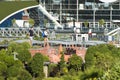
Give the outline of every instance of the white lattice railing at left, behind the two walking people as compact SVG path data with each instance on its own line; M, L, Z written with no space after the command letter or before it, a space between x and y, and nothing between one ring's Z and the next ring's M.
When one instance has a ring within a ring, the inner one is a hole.
M34 28L34 34L40 36L41 28ZM26 37L29 28L0 28L0 37Z

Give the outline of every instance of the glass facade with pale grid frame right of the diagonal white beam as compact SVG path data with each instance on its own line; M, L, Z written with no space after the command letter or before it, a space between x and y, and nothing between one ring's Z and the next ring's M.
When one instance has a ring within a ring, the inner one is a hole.
M60 22L89 22L90 27L99 27L99 20L104 19L106 27L112 27L113 20L120 20L120 1L103 3L99 0L42 0L48 12L58 14ZM45 2L44 2L45 1Z

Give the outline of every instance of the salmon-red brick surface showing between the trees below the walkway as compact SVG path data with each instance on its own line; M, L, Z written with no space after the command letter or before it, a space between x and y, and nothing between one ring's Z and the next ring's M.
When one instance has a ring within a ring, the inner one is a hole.
M84 61L86 49L85 48L79 48L74 47L76 49L76 54L82 58ZM60 61L61 54L59 53L59 50L52 48L52 47L44 47L40 49L30 49L29 50L31 55L34 56L36 53L41 53L43 55L46 55L49 57L50 62L52 63L58 63ZM71 55L64 55L65 61L68 61L68 59L71 57Z

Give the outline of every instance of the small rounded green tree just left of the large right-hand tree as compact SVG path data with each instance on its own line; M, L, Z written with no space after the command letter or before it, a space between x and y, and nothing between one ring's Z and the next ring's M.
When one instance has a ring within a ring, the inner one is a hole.
M80 70L81 64L82 64L82 59L76 54L72 55L72 57L69 58L69 67L75 69L76 71Z

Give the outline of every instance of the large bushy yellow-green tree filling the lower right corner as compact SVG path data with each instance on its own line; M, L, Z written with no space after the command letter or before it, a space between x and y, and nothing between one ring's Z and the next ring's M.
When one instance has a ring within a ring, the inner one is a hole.
M101 70L103 77L107 77L105 80L114 80L115 77L118 79L119 68L117 66L119 64L116 62L119 60L119 51L115 46L108 44L89 47L86 53L87 69ZM89 75L90 77L92 75Z

